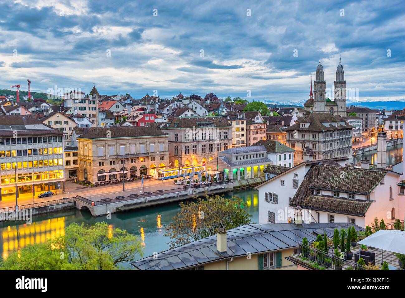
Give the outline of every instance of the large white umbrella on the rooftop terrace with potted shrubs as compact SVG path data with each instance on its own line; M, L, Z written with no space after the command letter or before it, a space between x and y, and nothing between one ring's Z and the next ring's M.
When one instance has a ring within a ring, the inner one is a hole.
M357 243L381 249L382 262L383 250L405 254L405 232L400 230L379 230Z

